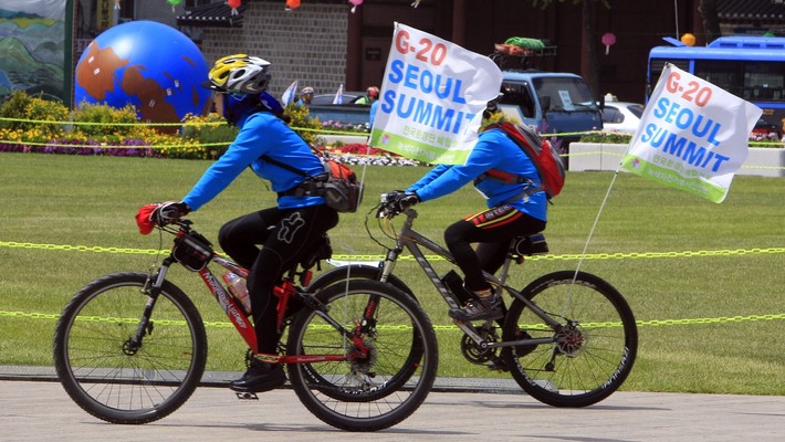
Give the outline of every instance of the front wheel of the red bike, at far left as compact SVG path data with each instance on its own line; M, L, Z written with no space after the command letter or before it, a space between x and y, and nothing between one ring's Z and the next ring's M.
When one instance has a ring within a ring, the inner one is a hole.
M182 406L205 372L207 335L185 293L164 282L143 345L129 338L149 299L147 274L114 273L65 305L54 332L60 382L83 410L112 423L159 420Z

